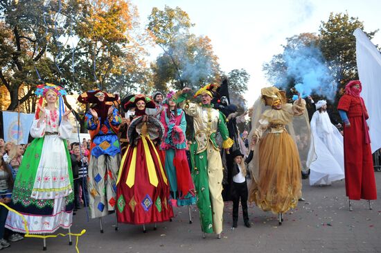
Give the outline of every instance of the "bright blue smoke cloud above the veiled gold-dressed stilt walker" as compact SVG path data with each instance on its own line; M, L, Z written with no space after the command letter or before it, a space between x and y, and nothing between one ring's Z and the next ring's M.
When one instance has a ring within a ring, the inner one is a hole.
M287 47L283 60L287 70L285 76L280 78L279 86L285 87L287 82L294 80L294 87L301 97L317 94L334 100L337 85L319 49L304 45Z

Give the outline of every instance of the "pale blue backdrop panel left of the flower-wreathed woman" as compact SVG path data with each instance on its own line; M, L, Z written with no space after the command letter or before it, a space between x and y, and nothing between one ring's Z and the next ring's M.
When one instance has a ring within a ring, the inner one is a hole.
M28 143L29 131L32 126L33 119L35 119L35 114L20 113L20 124L18 125L17 112L2 113L4 141L12 141L19 144Z

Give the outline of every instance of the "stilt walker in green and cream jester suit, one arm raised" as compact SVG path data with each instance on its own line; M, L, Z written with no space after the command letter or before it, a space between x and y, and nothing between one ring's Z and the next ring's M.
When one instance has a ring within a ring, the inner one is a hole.
M222 214L224 201L222 200L223 168L220 150L215 142L215 133L220 131L223 142L222 148L229 150L233 140L225 118L221 112L213 109L211 100L219 85L206 85L196 92L195 97L201 96L202 104L186 101L189 88L184 88L178 98L181 107L189 116L193 116L195 136L190 146L192 160L192 177L197 194L197 207L200 210L202 236L213 233L221 238Z

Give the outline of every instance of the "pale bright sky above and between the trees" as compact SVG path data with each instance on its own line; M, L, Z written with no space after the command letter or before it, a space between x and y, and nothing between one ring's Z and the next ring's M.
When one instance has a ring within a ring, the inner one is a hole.
M321 21L327 21L330 12L348 12L364 22L366 31L381 28L381 1L379 0L132 0L147 24L153 7L179 6L188 13L195 26L191 32L208 36L213 51L219 58L222 71L245 69L251 76L245 98L254 103L260 89L269 86L263 63L272 55L282 53L287 37L300 33L318 33ZM381 31L372 40L381 44ZM150 49L154 60L161 50Z

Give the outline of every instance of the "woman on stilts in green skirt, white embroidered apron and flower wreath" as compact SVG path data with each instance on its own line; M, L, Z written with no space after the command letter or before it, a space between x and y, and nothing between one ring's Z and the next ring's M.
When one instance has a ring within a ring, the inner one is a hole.
M30 129L35 139L19 167L10 207L24 216L30 234L51 234L60 227L70 229L73 220L73 173L66 141L73 127L68 119L71 111L64 112L62 96L67 93L62 87L38 85L35 94L40 96ZM6 227L26 233L24 220L14 212L8 213Z

